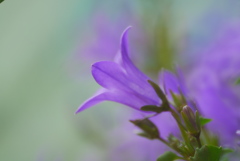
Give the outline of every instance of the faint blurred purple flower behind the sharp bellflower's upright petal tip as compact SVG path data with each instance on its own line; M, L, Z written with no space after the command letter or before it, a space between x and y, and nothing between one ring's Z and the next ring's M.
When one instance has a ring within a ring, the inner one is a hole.
M117 19L117 21L115 19ZM125 15L121 14L121 16L115 15L114 19L102 12L99 12L92 21L93 25L91 25L92 28L90 28L91 35L89 33L86 35L84 41L79 43L79 48L76 51L75 56L81 60L87 60L88 62L112 60L119 48L118 33L122 32L126 25L129 24L138 26L138 28L132 32L132 46L143 46L143 44L147 43L145 38L146 34L143 29L141 29L138 17L132 12L127 12ZM139 54L134 55L133 59L142 59L142 52L140 52L140 50L137 52Z

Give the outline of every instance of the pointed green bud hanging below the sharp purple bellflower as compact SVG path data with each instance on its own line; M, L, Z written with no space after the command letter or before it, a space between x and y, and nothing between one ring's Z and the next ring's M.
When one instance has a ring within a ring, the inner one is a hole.
M134 125L139 127L143 132L140 133L140 136L146 137L148 139L158 139L159 131L156 125L148 118L138 119L138 120L130 120Z

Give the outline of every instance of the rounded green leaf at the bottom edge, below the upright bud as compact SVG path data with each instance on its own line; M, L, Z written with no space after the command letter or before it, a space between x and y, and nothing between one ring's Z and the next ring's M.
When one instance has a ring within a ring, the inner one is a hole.
M219 161L222 152L222 147L204 145L200 149L196 149L194 157L191 157L191 161Z

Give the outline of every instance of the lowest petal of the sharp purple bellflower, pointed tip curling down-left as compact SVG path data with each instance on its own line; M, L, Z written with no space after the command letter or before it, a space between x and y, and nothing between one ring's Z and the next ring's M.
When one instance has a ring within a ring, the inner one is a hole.
M76 111L76 113L79 113L91 106L94 106L95 104L98 104L103 101L113 101L117 103L124 104L126 106L132 107L136 110L140 110L142 106L148 105L151 102L146 102L145 100L142 100L138 98L137 96L129 93L125 93L118 90L106 90L102 89L100 92L98 92L93 97L89 98L87 101L85 101Z

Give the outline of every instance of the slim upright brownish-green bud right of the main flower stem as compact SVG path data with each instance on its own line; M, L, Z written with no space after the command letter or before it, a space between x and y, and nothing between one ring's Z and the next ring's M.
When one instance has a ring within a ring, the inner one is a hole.
M199 137L200 135L200 125L199 125L199 115L198 112L194 114L189 106L184 106L181 111L182 118L186 125L187 130L190 135L194 137Z

